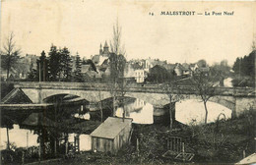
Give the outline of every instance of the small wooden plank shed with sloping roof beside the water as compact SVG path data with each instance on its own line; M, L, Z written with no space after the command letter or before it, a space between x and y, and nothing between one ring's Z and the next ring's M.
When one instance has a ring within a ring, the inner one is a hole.
M92 150L99 152L117 151L129 142L132 130L132 119L108 117L91 134Z

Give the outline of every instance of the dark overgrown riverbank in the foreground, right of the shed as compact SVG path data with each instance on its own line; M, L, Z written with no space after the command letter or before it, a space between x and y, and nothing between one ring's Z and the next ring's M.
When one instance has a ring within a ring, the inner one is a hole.
M239 118L207 125L175 122L173 132L169 132L168 126L134 125L131 144L117 155L87 151L46 164L184 164L182 160L162 156L168 150L166 139L170 137L182 138L185 152L195 155L188 164L233 164L255 152L255 117L256 111L248 110Z

